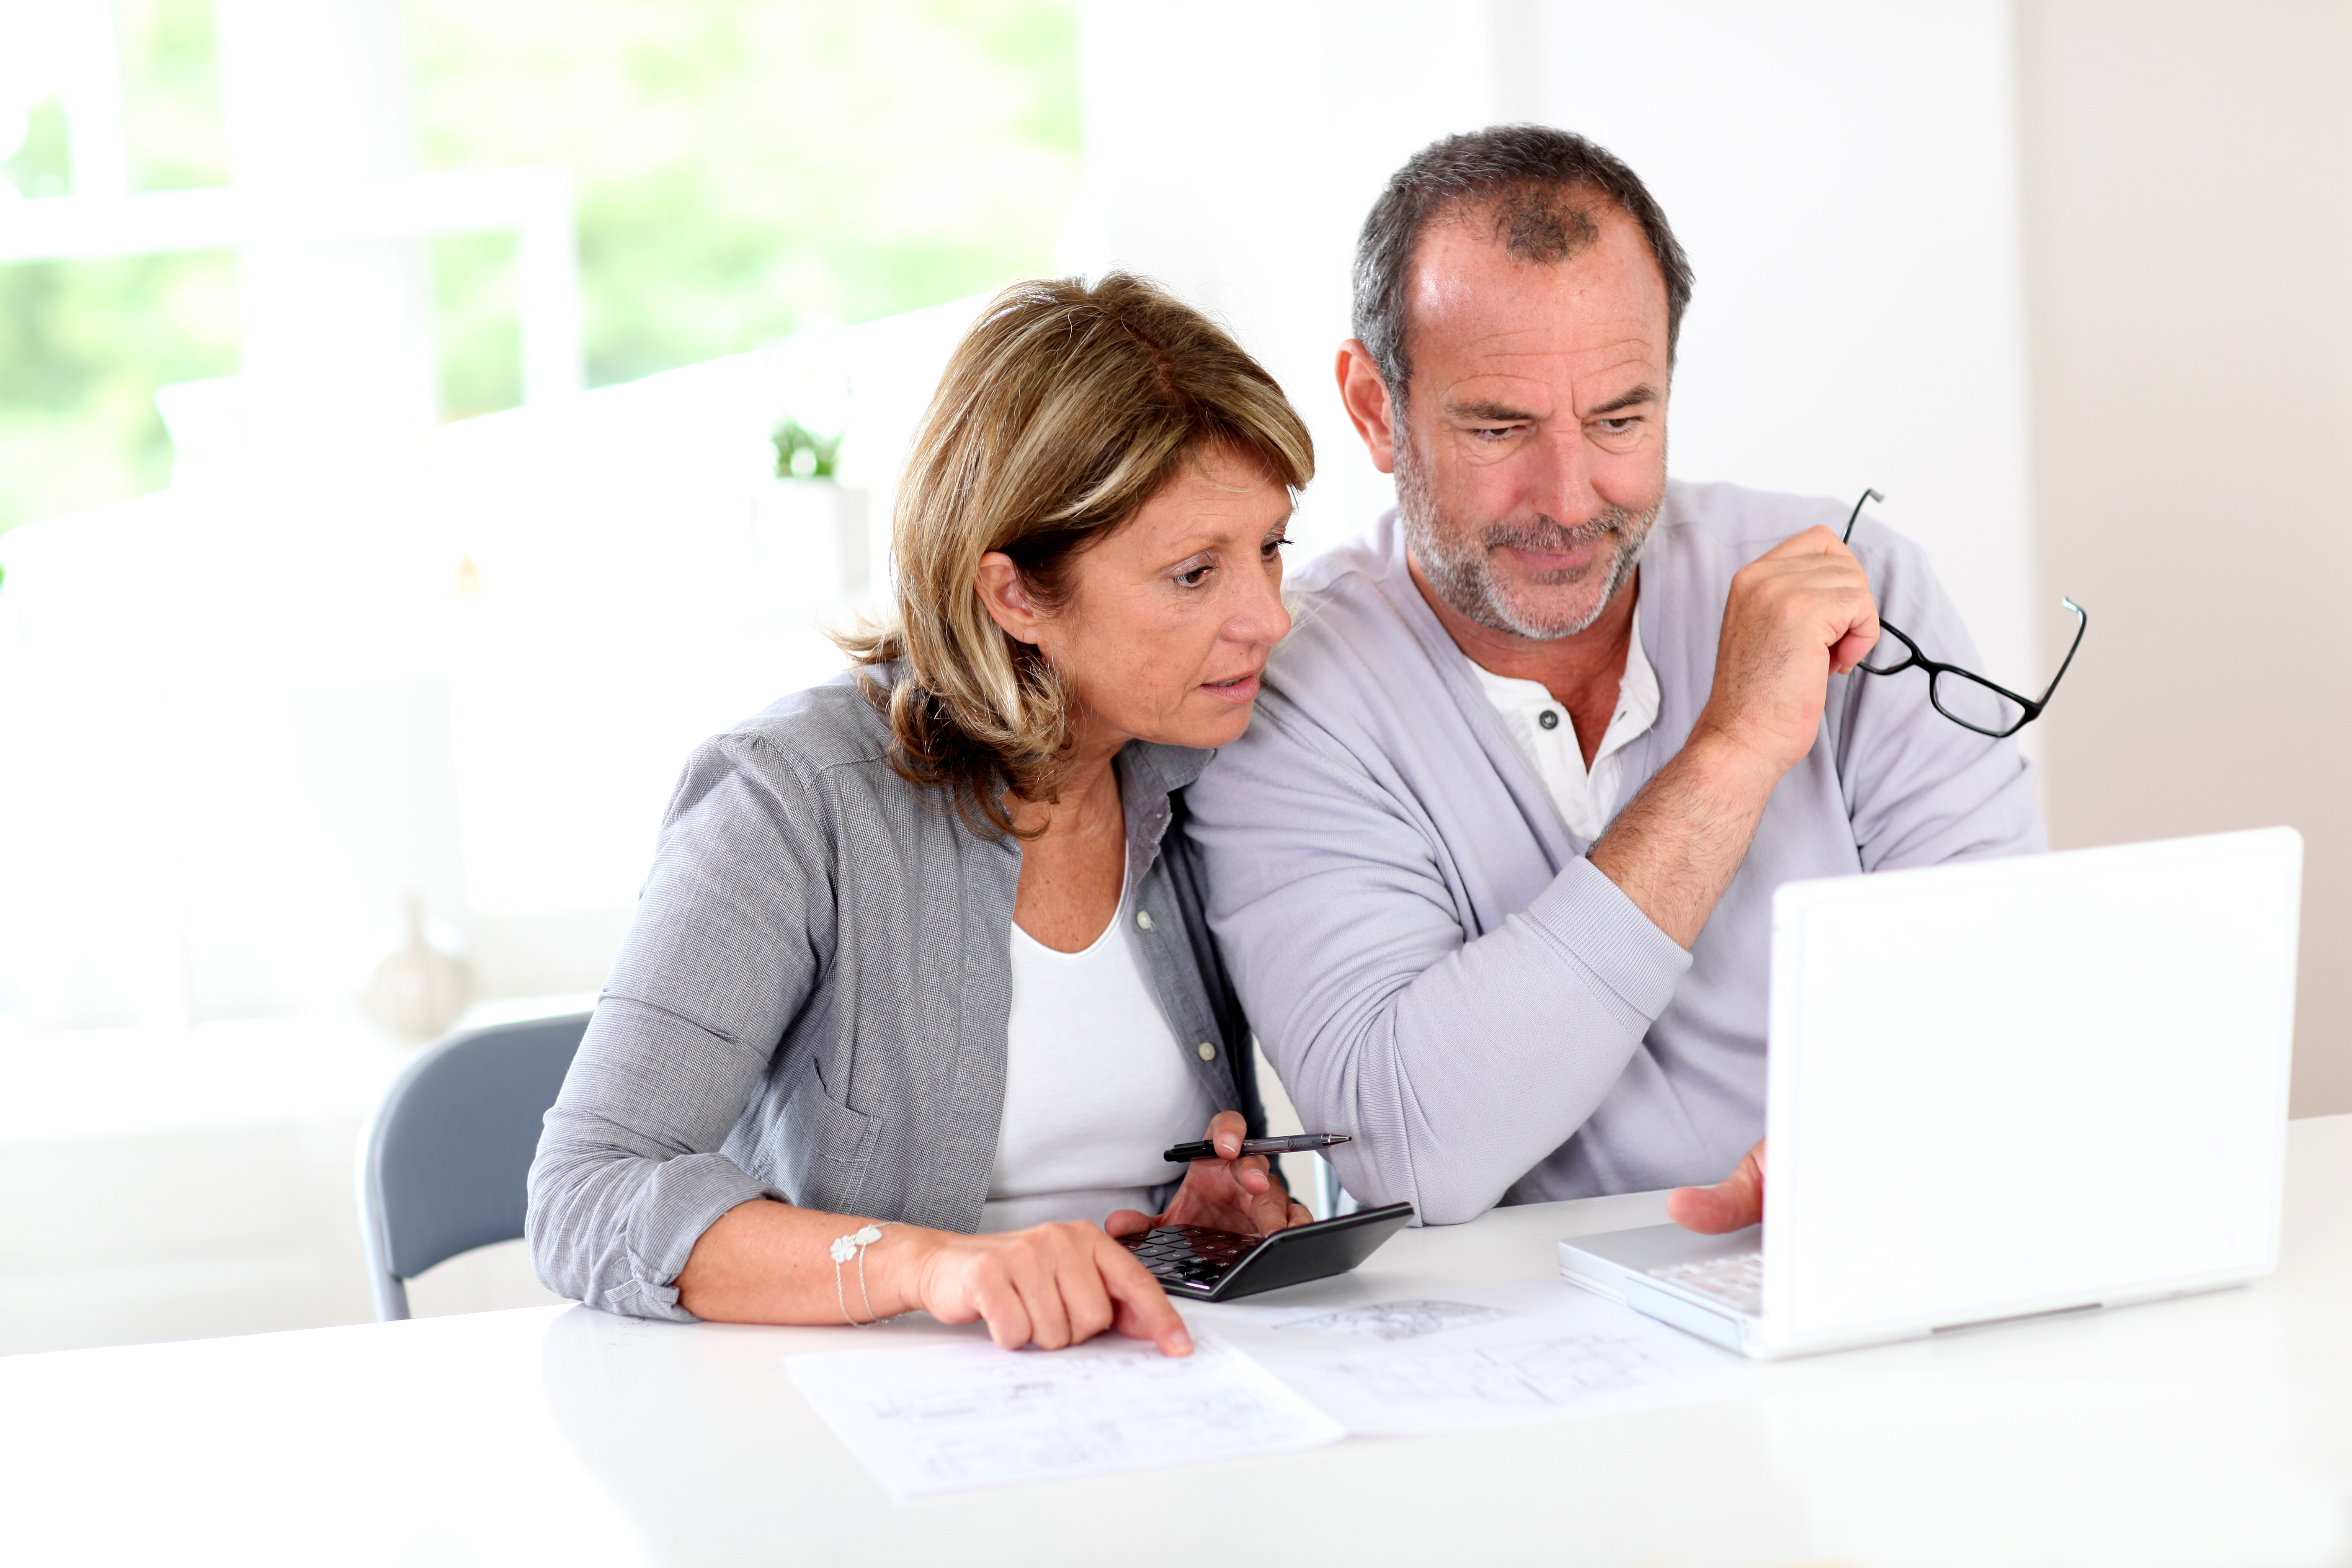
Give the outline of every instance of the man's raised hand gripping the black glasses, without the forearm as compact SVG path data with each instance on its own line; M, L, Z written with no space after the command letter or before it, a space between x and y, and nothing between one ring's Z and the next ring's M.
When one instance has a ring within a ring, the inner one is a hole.
M1719 736L1778 773L1820 733L1830 675L1879 642L1879 607L1853 550L1811 527L1740 567L1715 644L1715 689L1691 726Z

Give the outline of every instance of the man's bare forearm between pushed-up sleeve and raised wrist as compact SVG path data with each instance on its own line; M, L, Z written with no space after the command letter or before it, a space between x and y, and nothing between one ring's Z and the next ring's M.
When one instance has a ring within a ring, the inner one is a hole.
M1588 860L1689 950L1748 858L1780 773L1733 741L1693 733L1642 785Z

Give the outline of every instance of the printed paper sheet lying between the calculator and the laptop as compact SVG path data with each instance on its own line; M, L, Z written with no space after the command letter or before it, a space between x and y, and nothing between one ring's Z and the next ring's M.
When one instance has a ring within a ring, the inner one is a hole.
M1348 1432L1475 1432L1748 1399L1736 1356L1566 1281L1197 1312Z

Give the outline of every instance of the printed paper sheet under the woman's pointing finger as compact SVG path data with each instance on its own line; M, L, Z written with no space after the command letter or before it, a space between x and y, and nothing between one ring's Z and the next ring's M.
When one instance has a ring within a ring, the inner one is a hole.
M1345 1432L1247 1356L1192 1331L1190 1356L1103 1335L1070 1349L988 1340L788 1356L793 1382L891 1497L1240 1460Z

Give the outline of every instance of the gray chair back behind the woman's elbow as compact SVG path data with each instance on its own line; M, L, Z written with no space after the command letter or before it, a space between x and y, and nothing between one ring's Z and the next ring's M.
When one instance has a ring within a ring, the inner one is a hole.
M360 1239L376 1321L409 1314L409 1279L522 1234L539 1119L555 1105L588 1013L466 1030L383 1091L360 1145Z

